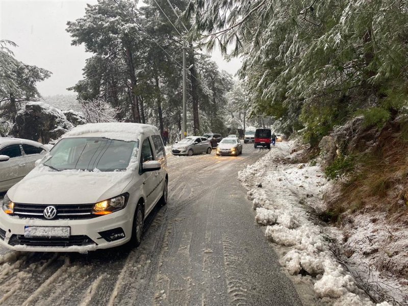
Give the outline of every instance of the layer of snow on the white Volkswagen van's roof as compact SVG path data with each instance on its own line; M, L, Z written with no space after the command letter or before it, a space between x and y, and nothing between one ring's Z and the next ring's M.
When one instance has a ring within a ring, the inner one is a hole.
M156 126L130 122L104 122L78 125L62 136L62 138L81 136L136 141L143 135L151 134L160 135Z

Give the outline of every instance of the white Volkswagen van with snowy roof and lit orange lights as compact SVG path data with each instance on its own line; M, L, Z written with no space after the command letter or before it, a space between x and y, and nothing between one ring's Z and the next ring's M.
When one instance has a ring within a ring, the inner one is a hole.
M53 252L138 246L144 220L158 202L166 204L167 182L156 127L79 125L7 192L0 245Z

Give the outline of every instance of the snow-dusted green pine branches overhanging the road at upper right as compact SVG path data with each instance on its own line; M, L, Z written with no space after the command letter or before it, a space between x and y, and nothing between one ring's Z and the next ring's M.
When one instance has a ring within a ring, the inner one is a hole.
M380 0L195 0L184 15L191 37L243 56L253 116L303 125L316 144L358 109L406 108L407 11Z

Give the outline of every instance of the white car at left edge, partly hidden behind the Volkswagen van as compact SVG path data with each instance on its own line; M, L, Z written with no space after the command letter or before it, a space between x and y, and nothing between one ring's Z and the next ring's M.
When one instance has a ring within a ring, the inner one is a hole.
M0 137L0 192L18 183L47 151L48 146L36 141Z

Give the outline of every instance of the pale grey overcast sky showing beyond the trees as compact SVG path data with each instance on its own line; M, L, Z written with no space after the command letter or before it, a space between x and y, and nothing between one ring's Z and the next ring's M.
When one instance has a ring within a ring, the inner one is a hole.
M15 57L25 64L36 65L53 72L38 89L44 96L70 93L67 87L82 79L86 53L83 46L71 46L66 22L82 17L86 4L92 0L0 0L0 40L17 43ZM219 52L212 54L220 69L232 74L240 60L226 62Z

